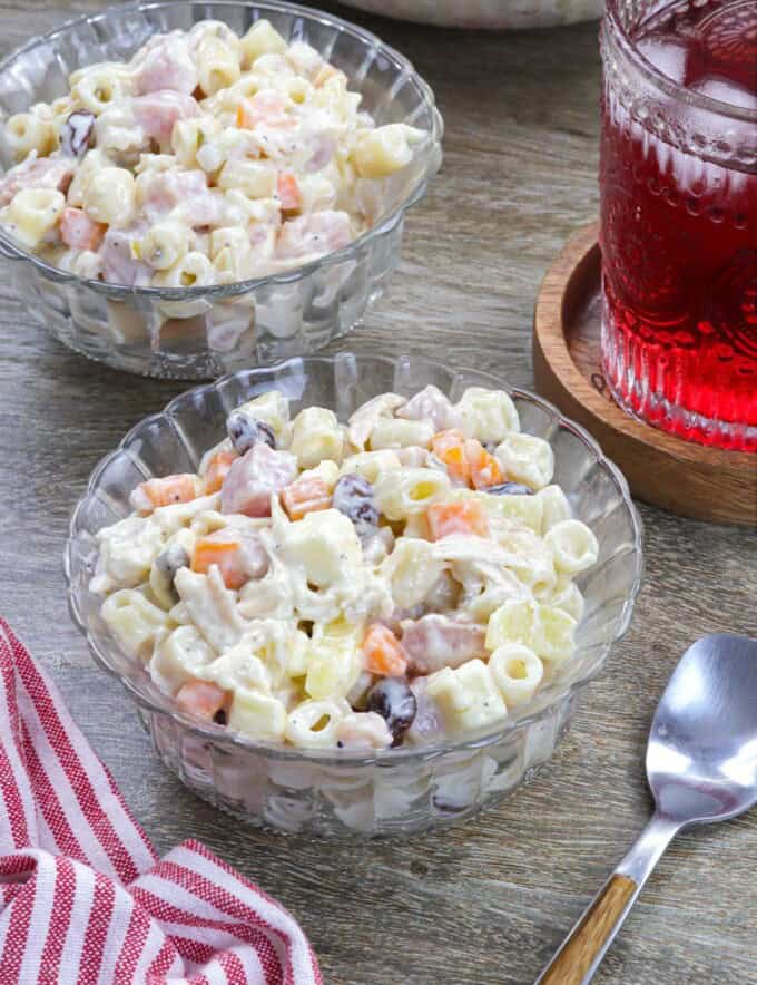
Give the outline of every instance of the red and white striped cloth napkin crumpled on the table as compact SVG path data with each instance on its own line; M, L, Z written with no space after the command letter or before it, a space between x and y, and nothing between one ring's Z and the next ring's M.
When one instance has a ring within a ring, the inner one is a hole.
M294 917L197 841L158 859L0 620L0 983L319 985Z

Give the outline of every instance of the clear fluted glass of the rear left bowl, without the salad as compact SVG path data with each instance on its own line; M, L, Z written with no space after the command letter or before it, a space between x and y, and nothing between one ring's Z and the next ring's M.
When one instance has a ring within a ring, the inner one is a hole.
M302 39L350 78L377 124L426 131L412 162L393 175L374 226L348 246L275 276L215 287L122 287L77 277L24 251L0 227L0 254L30 313L66 345L115 369L167 379L212 379L315 352L357 325L400 261L405 212L441 164L442 118L410 61L345 20L294 3L173 0L112 7L70 21L0 65L0 124L68 91L86 65L131 57L153 35L217 19L244 33L267 18ZM0 174L13 162L0 127Z

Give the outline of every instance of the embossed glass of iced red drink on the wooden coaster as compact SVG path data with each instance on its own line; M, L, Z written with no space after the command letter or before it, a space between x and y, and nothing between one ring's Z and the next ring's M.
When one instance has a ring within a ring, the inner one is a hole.
M603 28L602 364L635 416L757 451L757 0L649 9L626 53Z

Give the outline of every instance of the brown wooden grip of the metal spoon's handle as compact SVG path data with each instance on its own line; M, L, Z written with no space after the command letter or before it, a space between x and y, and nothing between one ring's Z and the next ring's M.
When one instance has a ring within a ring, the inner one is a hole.
M542 972L541 985L581 985L604 950L639 887L630 876L615 872Z

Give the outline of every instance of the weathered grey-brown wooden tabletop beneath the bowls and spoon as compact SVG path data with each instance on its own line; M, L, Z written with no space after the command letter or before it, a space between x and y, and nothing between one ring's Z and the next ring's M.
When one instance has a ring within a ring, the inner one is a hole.
M0 50L102 6L0 0ZM346 16L413 60L446 120L444 168L411 213L403 265L350 344L443 353L528 387L539 280L597 209L597 26L486 36ZM554 759L498 809L404 842L256 832L158 764L66 608L60 555L87 476L180 384L68 352L30 324L12 269L0 271L0 612L62 689L158 850L199 838L258 880L302 920L328 983L531 982L648 815L643 745L678 655L711 631L757 635L757 533L642 507L647 577L631 630ZM597 981L757 982L756 876L757 812L681 837Z

